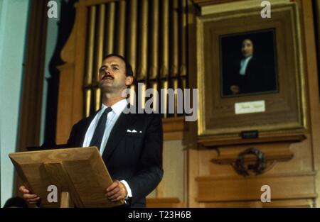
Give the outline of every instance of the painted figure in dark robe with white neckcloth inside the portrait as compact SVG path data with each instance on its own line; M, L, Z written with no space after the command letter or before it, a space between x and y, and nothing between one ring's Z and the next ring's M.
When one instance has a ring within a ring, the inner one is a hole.
M275 74L270 72L270 67L254 55L252 40L242 41L242 59L233 67L235 70L228 75L230 82L227 94L252 94L276 90Z

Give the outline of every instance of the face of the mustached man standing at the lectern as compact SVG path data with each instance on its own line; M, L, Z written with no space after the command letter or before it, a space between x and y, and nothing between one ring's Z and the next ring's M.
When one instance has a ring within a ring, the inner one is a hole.
M132 84L133 78L126 76L126 65L119 57L107 57L99 70L99 87L105 92L122 92Z

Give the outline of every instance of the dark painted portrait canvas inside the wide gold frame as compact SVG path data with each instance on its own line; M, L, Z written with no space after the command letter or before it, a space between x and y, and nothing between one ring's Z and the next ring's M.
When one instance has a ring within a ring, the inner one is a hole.
M277 91L274 30L220 38L222 96Z

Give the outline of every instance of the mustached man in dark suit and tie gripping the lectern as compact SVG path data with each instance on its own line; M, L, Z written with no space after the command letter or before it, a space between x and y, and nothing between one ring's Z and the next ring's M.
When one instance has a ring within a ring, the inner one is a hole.
M161 181L163 131L159 114L125 114L122 91L133 81L132 67L120 55L107 55L100 68L102 108L73 126L70 147L97 146L114 182L107 187L111 201L144 207L145 197ZM131 109L130 109L131 110ZM20 191L29 203L39 201L26 187Z

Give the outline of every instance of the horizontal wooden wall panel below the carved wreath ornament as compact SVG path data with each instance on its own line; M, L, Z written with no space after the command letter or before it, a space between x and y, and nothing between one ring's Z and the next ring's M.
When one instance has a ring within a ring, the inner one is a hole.
M316 198L315 172L268 174L250 177L196 177L199 202L259 201L263 185L271 188L271 199Z

